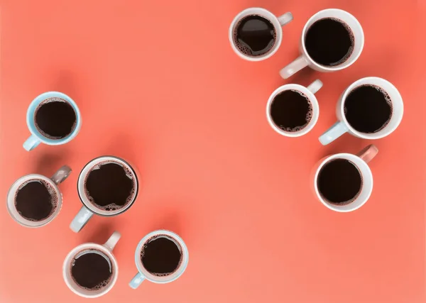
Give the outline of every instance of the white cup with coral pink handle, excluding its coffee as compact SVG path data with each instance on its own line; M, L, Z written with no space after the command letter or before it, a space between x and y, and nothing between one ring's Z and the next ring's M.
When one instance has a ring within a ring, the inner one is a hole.
M328 157L322 158L320 161L318 161L312 170L313 174L311 181L313 192L317 196L317 199L320 200L320 202L329 209L339 212L354 211L363 206L368 201L368 198L371 196L371 192L373 191L373 174L371 173L370 167L368 167L367 163L370 162L377 155L377 153L378 149L376 148L376 145L368 145L357 155L352 155L351 153L337 153L335 155L329 155ZM327 199L322 196L320 190L318 189L318 176L320 175L322 167L324 167L324 165L326 165L328 162L336 159L345 159L351 161L352 164L358 168L362 178L361 191L354 199L354 201L349 202L348 204L333 204L327 201Z

